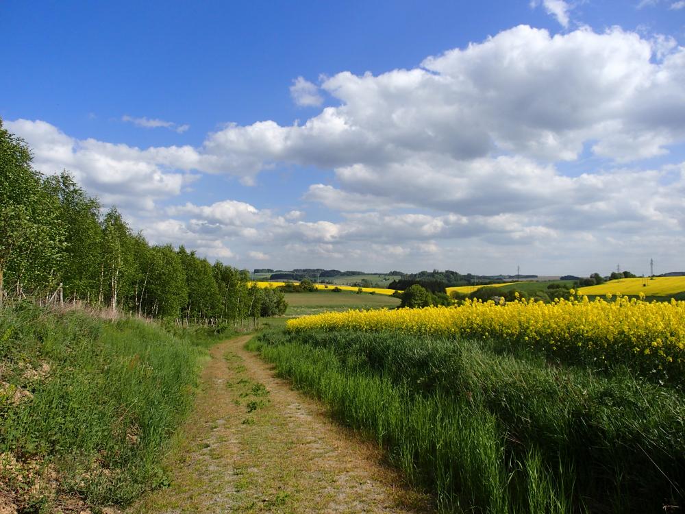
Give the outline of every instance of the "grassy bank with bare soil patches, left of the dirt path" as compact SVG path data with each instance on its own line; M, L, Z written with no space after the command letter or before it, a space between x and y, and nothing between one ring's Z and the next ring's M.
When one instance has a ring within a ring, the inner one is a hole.
M24 302L0 313L0 494L20 512L125 505L164 485L207 337Z

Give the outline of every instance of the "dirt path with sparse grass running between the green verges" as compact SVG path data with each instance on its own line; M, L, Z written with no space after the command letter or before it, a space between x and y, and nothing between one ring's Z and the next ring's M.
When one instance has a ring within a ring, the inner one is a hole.
M131 513L430 511L427 498L382 465L375 445L277 378L244 349L248 340L212 348L169 463L171 487Z

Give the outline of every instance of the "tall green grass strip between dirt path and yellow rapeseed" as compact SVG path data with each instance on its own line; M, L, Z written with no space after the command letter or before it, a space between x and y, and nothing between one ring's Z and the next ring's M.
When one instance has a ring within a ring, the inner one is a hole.
M444 509L656 513L683 504L685 398L673 389L387 332L270 332L251 348L377 439Z

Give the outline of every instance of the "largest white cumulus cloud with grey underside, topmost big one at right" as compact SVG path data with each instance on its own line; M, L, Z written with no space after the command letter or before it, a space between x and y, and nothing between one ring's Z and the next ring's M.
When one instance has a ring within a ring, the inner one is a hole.
M338 73L322 88L340 106L302 125L227 125L205 147L226 170L253 173L274 162L331 168L423 153L575 160L590 142L598 155L638 160L685 140L684 59L683 47L618 27L556 36L514 27L418 68Z

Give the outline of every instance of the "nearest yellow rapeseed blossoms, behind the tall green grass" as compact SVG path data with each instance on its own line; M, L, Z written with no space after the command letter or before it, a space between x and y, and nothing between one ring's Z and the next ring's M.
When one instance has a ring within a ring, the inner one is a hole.
M351 310L288 321L288 330L399 330L432 336L495 339L570 362L625 363L646 374L685 380L685 302L572 297L553 304Z

